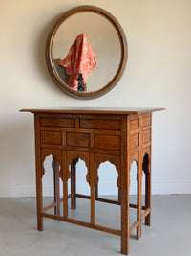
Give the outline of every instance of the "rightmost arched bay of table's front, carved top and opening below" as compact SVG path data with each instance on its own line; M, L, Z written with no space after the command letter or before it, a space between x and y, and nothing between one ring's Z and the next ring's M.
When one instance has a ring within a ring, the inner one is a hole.
M120 161L96 154L96 224L120 229ZM108 212L108 215L105 213Z

